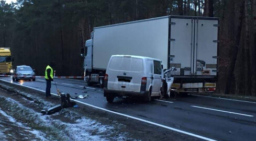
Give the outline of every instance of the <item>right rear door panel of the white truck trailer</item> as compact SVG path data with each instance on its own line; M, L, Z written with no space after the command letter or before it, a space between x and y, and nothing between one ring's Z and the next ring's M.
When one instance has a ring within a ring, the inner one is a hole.
M194 75L216 75L218 20L195 20Z

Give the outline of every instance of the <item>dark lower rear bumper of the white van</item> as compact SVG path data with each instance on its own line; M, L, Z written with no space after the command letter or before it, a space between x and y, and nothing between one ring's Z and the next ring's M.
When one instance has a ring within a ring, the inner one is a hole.
M104 97L146 97L148 96L149 91L140 91L140 92L131 92L131 91L119 91L119 90L108 90L104 88Z

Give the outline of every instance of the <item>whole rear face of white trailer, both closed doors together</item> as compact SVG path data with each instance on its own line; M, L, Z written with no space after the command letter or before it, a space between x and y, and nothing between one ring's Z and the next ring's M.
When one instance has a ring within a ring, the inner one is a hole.
M169 37L177 75L217 75L217 18L171 17Z

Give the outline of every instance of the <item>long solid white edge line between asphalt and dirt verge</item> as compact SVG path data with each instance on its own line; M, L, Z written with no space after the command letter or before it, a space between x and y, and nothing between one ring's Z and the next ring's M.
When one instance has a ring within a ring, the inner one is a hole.
M3 79L1 79L1 80L3 80ZM7 81L7 80L3 80L3 81L6 81L6 82L10 83L10 81ZM13 83L13 84L15 84L15 83ZM15 84L15 85L18 85L18 84ZM21 85L19 85L19 86L21 86ZM39 89L36 89L36 88L24 86L24 85L22 85L22 86L23 86L23 87L30 88L30 89L34 89L34 90L39 90ZM39 90L39 91L45 92L45 91L43 91L43 90ZM52 95L55 95L55 96L58 96L58 95L55 94L55 93L51 93L51 94L52 94ZM180 132L180 133L183 133L183 134L186 134L186 135L194 136L194 137L201 138L201 139L205 139L205 140L209 140L209 141L216 141L216 140L214 140L214 139L210 139L210 138L207 138L207 137L204 137L204 136L199 136L199 135L196 135L196 134L193 134L193 133L185 132L185 131L182 131L182 130L177 130L176 128L172 128L172 127L169 127L169 126L165 126L165 125L161 125L161 124L154 123L154 122L151 122L151 121L139 119L138 117L134 117L134 116L130 116L130 115L127 115L127 114L122 114L122 113L110 111L110 110L107 110L107 109L104 109L104 108L96 107L95 105L91 105L91 104L88 104L88 103L84 103L84 102L82 102L82 101L78 101L78 100L74 100L74 99L71 99L71 100L73 100L73 101L75 101L75 102L78 102L78 103L82 103L82 104L88 105L88 106L93 107L93 108L96 108L96 109L100 109L100 110L106 111L106 112L118 114L118 115L121 115L121 116L126 116L126 117L129 117L129 118L131 118L131 119L135 119L135 120L138 120L138 121L142 121L142 122L146 122L146 123L153 124L153 125L156 125L156 126L160 126L160 127L166 128L166 129L168 129L168 130Z

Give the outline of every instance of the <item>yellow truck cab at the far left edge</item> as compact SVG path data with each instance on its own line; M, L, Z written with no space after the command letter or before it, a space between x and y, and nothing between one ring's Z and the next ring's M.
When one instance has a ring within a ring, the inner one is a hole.
M12 61L10 48L0 48L0 74L11 74L13 72Z

